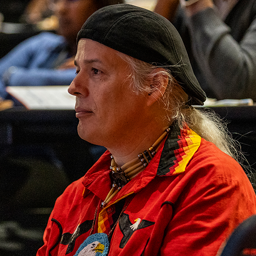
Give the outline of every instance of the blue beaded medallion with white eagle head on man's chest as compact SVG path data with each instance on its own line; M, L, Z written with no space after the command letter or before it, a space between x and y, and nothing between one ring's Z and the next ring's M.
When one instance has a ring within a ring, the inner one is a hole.
M108 247L107 234L96 233L86 238L74 256L106 256Z

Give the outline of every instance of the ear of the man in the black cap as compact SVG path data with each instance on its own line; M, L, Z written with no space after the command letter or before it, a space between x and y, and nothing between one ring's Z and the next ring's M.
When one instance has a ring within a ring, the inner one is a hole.
M157 68L159 70L161 68ZM167 74L163 74L162 72L155 72L151 83L150 83L150 91L147 95L147 106L150 107L156 101L159 101L163 97L163 94L166 91L168 86L169 77Z

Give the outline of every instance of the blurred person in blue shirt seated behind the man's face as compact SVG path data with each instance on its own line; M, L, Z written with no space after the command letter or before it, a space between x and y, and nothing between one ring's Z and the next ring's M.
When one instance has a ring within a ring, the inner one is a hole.
M56 34L42 32L16 46L0 60L0 97L6 86L69 85L75 77L76 35L101 7L122 0L52 0L59 26Z

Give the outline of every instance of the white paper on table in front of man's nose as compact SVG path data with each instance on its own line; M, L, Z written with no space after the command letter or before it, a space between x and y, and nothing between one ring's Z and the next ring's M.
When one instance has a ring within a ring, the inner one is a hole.
M9 86L7 92L27 109L74 109L75 96L68 86Z

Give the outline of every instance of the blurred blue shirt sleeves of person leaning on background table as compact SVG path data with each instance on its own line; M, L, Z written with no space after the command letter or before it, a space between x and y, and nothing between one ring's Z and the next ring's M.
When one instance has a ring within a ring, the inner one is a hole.
M0 60L0 96L7 96L6 86L69 85L75 68L53 68L64 46L61 36L41 33L13 48Z

